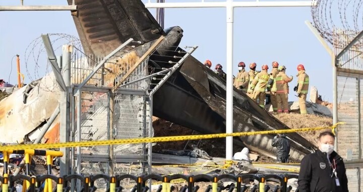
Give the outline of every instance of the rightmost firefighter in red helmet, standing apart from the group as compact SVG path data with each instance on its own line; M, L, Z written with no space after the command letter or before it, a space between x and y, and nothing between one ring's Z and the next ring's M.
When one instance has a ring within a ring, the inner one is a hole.
M301 64L297 66L297 72L297 85L294 87L294 91L298 94L300 114L307 114L306 96L309 91L309 76L305 73L305 67Z

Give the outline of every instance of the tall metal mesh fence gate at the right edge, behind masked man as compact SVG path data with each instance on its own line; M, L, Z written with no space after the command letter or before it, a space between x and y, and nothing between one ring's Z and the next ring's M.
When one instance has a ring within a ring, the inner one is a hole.
M343 38L345 42L351 42L355 36L356 34L339 31L335 38ZM336 54L344 48L336 45L334 47ZM338 121L346 122L337 130L337 150L346 162L350 191L363 191L363 168L361 167L363 162L361 154L363 54L360 47L361 45L357 41L337 60L336 64Z

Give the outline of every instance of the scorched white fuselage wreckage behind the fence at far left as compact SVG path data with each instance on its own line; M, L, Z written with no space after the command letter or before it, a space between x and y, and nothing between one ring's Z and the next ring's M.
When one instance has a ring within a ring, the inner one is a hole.
M30 85L14 91L0 101L0 142L22 142L24 136L50 117L59 101L59 89L53 75L47 75L31 90Z

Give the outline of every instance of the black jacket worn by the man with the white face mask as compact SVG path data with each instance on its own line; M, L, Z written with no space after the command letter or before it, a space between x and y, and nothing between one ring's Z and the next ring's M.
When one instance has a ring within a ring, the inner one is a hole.
M332 165L329 164L327 153L320 150L306 155L302 159L297 180L298 192L348 192L348 179L343 159L335 151L329 159ZM332 168L334 165L336 165L340 186L336 186L336 177Z

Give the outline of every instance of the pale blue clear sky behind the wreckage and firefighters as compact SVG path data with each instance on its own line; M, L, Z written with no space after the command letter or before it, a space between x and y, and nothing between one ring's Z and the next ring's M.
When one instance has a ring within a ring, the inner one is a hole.
M166 0L167 2L171 2ZM196 2L179 1L177 2ZM205 0L207 1L207 0ZM222 0L221 0L222 1ZM26 5L66 5L67 1L24 1ZM143 0L143 2L147 2ZM20 1L2 1L0 5L20 5ZM149 10L155 16L155 9ZM78 36L69 11L42 12L0 12L0 79L8 81L11 66L13 71L10 83L16 84L16 59L19 54L24 60L28 45L41 34L66 33ZM332 102L332 67L330 56L305 21L312 21L311 8L235 8L234 9L234 51L233 74L237 74L237 63L246 65L257 63L257 69L276 60L284 65L288 76L294 76L290 83L289 101L297 100L293 87L296 85L296 66L305 65L310 76L310 86L316 86L323 99ZM217 63L226 71L226 12L225 8L186 8L166 9L165 28L180 26L184 37L180 47L198 45L193 53L201 62L212 61L212 68ZM29 51L29 50L28 50ZM40 58L42 68L46 58ZM30 83L21 63L25 83ZM34 74L34 63L28 64L29 73ZM41 75L41 74L40 74ZM33 78L34 79L34 78ZM309 97L308 97L309 99Z

